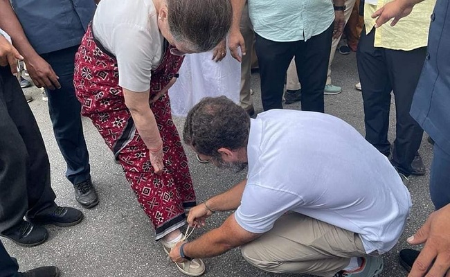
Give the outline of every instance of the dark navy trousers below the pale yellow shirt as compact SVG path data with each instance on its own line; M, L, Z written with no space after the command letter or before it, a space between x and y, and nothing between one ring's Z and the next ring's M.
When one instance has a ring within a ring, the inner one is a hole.
M357 50L366 140L386 157L389 156L390 93L393 91L396 136L391 162L399 172L408 176L424 132L410 116L409 110L425 61L426 47L411 51L375 48L374 39L375 29L366 35L363 28Z

